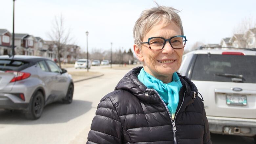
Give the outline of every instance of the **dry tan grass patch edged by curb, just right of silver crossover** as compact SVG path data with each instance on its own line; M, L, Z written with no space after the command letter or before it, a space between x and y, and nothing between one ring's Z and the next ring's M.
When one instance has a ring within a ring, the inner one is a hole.
M83 81L83 80L87 80L87 79L91 79L91 78L100 77L100 76L104 75L100 72L84 72L84 71L83 72L68 72L68 73L72 75L74 83Z

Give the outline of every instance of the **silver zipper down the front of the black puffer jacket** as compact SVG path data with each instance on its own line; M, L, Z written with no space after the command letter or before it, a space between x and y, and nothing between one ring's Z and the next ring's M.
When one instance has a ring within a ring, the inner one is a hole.
M179 113L179 111L180 111L180 109L181 109L181 106L182 106L182 104L183 104L183 102L184 102L184 98L185 98L185 93L186 93L186 91L184 92L183 100L182 100L181 106L180 106L178 112L176 113L176 115L175 115L175 117L174 117L174 122L173 122L173 120L172 120L172 117L171 117L171 114L170 114L170 112L169 112L169 109L167 108L166 104L164 103L164 101L162 100L162 98L160 97L160 95L158 94L158 92L157 92L156 90L152 89L152 88L151 88L151 89L146 89L146 91L149 91L149 92L153 92L153 91L154 91L154 92L158 95L158 97L160 98L161 102L163 103L165 109L167 110L167 112L168 112L168 114L169 114L169 117L170 117L170 119L171 119L171 122L172 122L174 144L177 144L177 139L176 139L176 132L177 132L177 129L176 129L176 124L175 124L175 122L176 122L176 119L175 119L175 118L176 118L176 116L178 115L178 113Z

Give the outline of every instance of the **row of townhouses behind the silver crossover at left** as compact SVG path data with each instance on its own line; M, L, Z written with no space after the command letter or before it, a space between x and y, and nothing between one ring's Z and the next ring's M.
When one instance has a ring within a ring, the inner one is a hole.
M14 51L18 55L36 55L58 59L57 45L54 41L46 41L41 37L34 37L28 33L14 34ZM77 45L64 45L60 51L60 60L63 62L75 62L80 55L80 47ZM12 34L6 29L0 29L0 55L12 53Z

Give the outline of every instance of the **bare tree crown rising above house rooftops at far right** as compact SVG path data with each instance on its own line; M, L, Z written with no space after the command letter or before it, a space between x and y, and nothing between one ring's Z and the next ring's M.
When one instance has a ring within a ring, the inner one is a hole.
M244 34L249 29L252 29L256 26L255 18L253 17L245 17L234 29L234 34Z

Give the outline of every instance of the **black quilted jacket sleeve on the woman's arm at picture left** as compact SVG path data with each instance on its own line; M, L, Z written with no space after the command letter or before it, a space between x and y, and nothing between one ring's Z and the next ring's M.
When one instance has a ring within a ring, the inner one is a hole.
M121 144L123 130L119 116L110 98L104 98L97 107L86 144Z

